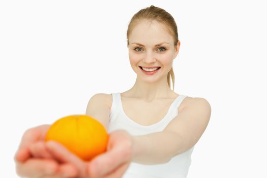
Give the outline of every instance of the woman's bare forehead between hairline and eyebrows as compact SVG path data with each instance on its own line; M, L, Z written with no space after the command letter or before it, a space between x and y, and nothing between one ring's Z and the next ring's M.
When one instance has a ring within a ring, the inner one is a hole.
M173 44L174 39L164 24L157 21L143 20L132 29L129 42L137 42L144 45L159 44L161 42Z

